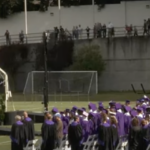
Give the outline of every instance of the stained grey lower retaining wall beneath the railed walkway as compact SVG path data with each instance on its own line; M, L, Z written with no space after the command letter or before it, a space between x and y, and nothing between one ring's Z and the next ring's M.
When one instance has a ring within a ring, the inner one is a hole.
M74 50L84 44L98 44L106 62L106 70L99 78L99 91L128 91L131 84L150 90L150 38L114 38L75 41ZM23 91L28 72L35 70L37 45L29 45L30 62L19 68L15 78L17 91Z

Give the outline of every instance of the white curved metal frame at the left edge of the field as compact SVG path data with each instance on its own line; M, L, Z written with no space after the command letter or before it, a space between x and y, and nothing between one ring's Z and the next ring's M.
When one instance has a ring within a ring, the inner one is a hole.
M8 75L1 68L0 68L0 79L1 79L0 85L4 86L4 93L1 94L5 95L5 111L7 111L7 101L10 97L12 97L12 95L11 91L9 91Z

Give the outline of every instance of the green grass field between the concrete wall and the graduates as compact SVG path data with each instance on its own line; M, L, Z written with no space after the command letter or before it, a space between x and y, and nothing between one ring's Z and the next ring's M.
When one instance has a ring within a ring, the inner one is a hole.
M87 108L89 102L97 104L102 101L105 106L108 106L108 101L114 100L120 103L124 103L125 100L131 100L131 105L134 106L136 100L141 98L143 94L135 94L132 92L106 92L99 93L95 96L51 96L49 102L49 110L52 107L57 107L59 110L65 110L73 106ZM147 95L150 96L150 95ZM26 96L27 97L27 96ZM26 99L21 94L14 94L11 100L8 101L8 111L14 110L26 110L31 112L43 112L43 105L41 104L42 98L38 96L38 100ZM5 126L10 128L10 126ZM41 124L35 124L35 130L40 131ZM39 138L39 137L38 137ZM0 150L10 150L10 138L8 136L0 136Z

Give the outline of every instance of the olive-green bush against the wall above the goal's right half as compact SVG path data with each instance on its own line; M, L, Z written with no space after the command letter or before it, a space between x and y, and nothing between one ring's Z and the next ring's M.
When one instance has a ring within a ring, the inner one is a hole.
M73 64L70 70L97 71L100 75L105 69L105 63L98 45L88 44L74 50Z

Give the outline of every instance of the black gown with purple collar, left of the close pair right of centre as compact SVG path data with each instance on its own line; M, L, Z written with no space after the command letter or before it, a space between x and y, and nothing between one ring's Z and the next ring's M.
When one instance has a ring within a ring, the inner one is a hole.
M113 150L111 127L108 123L98 127L99 150Z

